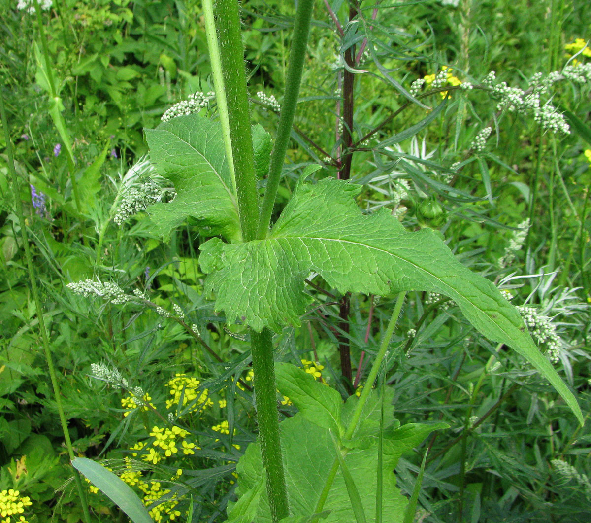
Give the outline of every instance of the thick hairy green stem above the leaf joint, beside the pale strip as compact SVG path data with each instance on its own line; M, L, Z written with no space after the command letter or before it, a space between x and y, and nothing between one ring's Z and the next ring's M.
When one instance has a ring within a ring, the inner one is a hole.
M256 237L259 206L238 2L219 0L216 4L216 18L222 75L228 103L238 213L242 238L244 241L250 241Z

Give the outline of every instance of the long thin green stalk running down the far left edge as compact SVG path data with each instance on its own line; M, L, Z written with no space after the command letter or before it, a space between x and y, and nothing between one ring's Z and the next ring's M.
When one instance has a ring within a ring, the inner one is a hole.
M49 347L49 338L47 335L47 329L45 327L45 319L43 318L43 307L41 306L41 299L39 298L39 292L37 289L37 280L35 280L35 269L33 267L33 257L31 256L31 250L29 248L29 240L27 234L27 226L25 225L25 217L22 212L22 202L20 191L18 189L18 177L17 170L14 166L14 157L12 157L12 142L10 139L10 131L8 129L8 118L6 115L6 109L4 108L4 96L0 92L0 114L2 116L2 127L4 127L4 137L6 140L6 153L8 157L8 170L10 171L12 181L12 192L14 193L14 202L17 207L18 222L21 227L21 238L22 247L25 251L25 259L27 259L27 269L29 273L29 281L31 282L31 293L35 301L35 311L37 312L37 319L39 321L39 330L41 331L41 341L43 341L43 350L45 353L45 359L47 361L47 369L49 370L49 377L51 385L53 386L53 393L56 398L57 412L59 413L61 429L64 432L64 440L66 442L66 448L68 450L68 456L70 460L73 460L74 450L72 448L72 440L70 440L70 432L68 431L68 424L66 415L64 414L64 408L61 404L61 392L60 385L57 381L56 369L53 366L53 358L51 357L51 349ZM74 469L74 480L76 480L76 488L78 495L80 496L80 502L82 503L82 511L86 523L90 523L90 513L88 511L88 503L86 502L86 495L82 485L82 479L80 473Z

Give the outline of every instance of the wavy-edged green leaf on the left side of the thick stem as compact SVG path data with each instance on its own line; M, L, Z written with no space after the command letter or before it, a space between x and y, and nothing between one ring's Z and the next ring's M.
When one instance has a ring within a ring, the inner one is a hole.
M222 129L197 114L180 116L145 130L150 162L173 182L174 201L151 205L152 231L164 238L192 217L207 235L238 240L240 223Z

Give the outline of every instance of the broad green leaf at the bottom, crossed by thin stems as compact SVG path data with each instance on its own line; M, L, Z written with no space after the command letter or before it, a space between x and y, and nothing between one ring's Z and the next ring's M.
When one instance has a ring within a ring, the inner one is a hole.
M441 427L447 426L441 424ZM404 428L403 426L402 428ZM335 444L330 432L308 421L302 414L281 422L281 444L284 450L285 480L287 482L290 509L297 516L309 516L314 513L320 498L320 492L326 483L327 476L333 462L337 459ZM384 521L396 523L404 518L407 499L401 495L396 486L396 479L392 470L396 466L398 457L413 448L440 425L413 425L415 438L394 439L384 451ZM392 449L394 453L391 453ZM376 495L376 467L378 466L378 447L372 445L365 449L350 450L344 458L346 467L352 477L356 478L359 499L366 514L374 513ZM258 444L251 444L236 467L238 470L238 496L251 499L251 490L258 491L264 468ZM324 510L330 511L326 522L342 523L355 521L355 515L345 478L342 470L337 472L329 496L324 504ZM271 522L267 492L261 492L261 498L253 519L257 523ZM296 521L298 521L296 519ZM369 518L368 521L374 521Z

